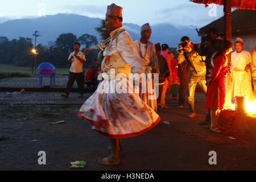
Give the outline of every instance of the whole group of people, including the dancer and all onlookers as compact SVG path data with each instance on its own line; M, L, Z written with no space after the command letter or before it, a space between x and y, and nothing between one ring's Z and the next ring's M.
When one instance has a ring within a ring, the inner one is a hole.
M210 28L200 44L193 44L188 36L183 36L179 51L175 55L175 52L169 51L167 44L150 42L151 32L154 30L151 30L149 23L142 25L141 38L133 42L122 26L122 7L114 3L108 6L106 26L111 31L111 39L102 52L103 60L101 63L97 61L95 66L101 65L101 71L108 79L100 82L96 92L85 101L78 114L79 118L92 123L94 130L110 138L112 152L110 156L98 159L100 164L119 164L120 139L140 135L156 126L160 121L158 107L171 109L166 101L177 101L179 109L190 110L188 118L195 118L194 96L197 84L206 96L205 107L208 109L205 121L200 124L209 125L210 131L214 133L221 133L216 118L219 111L224 109L228 74L232 74L233 79L233 101L236 96L253 98L250 69L253 85L256 87L256 62L251 61L250 52L243 50L241 38L237 38L236 51L232 53L232 65L229 70L227 55L232 52L233 45L228 40L222 40L216 28ZM80 68L85 63L84 55L90 49L86 49L82 54L79 47L79 43L75 43L75 51L68 58L71 68L63 97L68 97L75 79L79 88L81 87ZM114 77L112 69L115 70ZM95 72L96 68L93 68L89 73ZM145 75L147 81L146 84L143 79L139 81L139 93L111 92L115 85L130 89L131 85L134 85L133 80L129 79L130 73ZM123 76L122 79L115 77L118 74ZM152 76L149 76L150 74ZM155 83L156 74L159 75L159 81ZM150 82L155 84L148 85ZM152 92L156 85L159 88L158 97L156 92ZM109 92L101 92L102 90ZM80 92L82 97L82 89Z

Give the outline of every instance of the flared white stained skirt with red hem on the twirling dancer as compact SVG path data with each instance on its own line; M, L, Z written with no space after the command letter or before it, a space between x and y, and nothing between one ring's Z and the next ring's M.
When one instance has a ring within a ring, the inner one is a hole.
M138 93L129 93L129 89L134 90L132 80L104 80L82 105L79 114L92 123L92 129L110 138L143 134L156 126L160 117Z

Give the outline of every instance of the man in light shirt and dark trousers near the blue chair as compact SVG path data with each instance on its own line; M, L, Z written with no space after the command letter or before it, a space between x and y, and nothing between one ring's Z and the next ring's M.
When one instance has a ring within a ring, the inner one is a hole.
M69 69L68 84L65 93L61 94L61 96L65 98L68 98L69 92L71 92L71 88L75 80L80 90L79 98L84 97L84 74L82 73L82 66L85 64L86 59L84 53L80 51L80 43L75 43L74 49L75 51L71 52L71 54L68 57L68 63L71 63L71 67Z

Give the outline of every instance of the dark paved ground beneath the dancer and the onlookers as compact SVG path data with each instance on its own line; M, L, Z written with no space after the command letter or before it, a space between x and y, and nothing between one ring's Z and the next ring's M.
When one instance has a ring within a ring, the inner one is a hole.
M173 108L159 109L162 120L154 129L122 140L119 166L101 166L97 158L109 154L109 140L77 118L86 98L60 94L0 92L0 170L74 170L68 163L75 160L87 163L75 170L256 170L255 138L198 125L207 111L202 93L195 95L196 118L188 119L177 101L168 102ZM46 165L38 164L39 151L46 152ZM209 165L209 151L216 151L217 165Z

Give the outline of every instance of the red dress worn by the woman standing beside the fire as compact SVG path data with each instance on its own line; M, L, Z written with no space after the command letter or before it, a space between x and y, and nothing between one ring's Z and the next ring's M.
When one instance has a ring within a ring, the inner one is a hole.
M226 97L226 73L228 67L225 64L225 56L217 56L213 59L214 67L212 67L212 82L208 86L207 100L205 107L212 110L224 109Z

